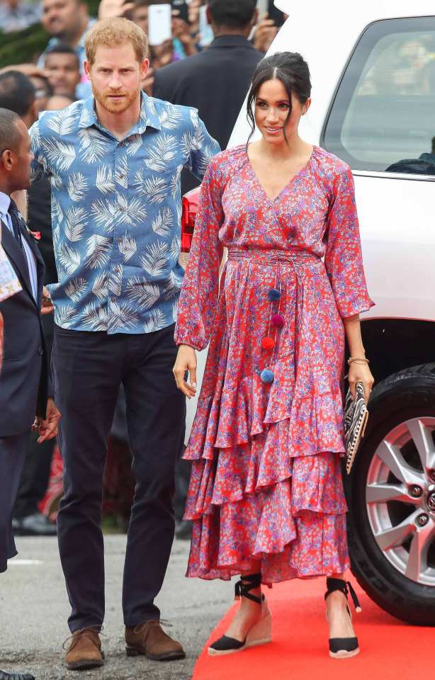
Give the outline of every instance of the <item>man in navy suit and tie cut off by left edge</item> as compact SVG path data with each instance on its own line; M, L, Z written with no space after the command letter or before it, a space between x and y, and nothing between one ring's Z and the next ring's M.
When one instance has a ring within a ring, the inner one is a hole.
M26 125L16 113L0 108L0 221L1 245L22 290L0 302L4 319L4 361L0 375L0 572L16 555L11 514L30 430L38 442L57 435L60 419L50 397L48 358L40 308L44 263L11 193L30 186L33 153ZM50 302L45 301L47 310ZM36 414L36 419L35 419ZM32 676L13 674L13 680ZM11 676L0 671L0 680Z

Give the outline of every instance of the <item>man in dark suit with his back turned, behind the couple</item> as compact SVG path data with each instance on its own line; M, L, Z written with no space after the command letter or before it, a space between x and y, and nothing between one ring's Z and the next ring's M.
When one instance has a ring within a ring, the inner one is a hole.
M257 21L256 0L208 0L207 18L215 39L197 55L158 69L152 95L173 104L196 106L210 135L225 149L262 52L249 42ZM181 191L198 186L181 175Z

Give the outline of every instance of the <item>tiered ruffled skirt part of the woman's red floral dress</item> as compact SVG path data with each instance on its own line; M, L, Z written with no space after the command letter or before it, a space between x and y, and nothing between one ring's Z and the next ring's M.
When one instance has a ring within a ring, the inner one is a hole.
M276 285L274 306L267 292ZM269 324L277 311L286 319L282 331ZM270 354L260 348L266 334L275 339ZM266 584L349 567L343 351L321 261L230 256L185 454L192 463L189 577L230 579L253 560ZM262 368L273 370L271 385Z

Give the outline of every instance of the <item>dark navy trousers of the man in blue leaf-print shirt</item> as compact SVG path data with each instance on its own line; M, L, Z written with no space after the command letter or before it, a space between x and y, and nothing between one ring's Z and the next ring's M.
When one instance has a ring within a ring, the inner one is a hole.
M174 467L186 419L186 400L172 374L176 350L174 326L137 335L55 327L52 367L64 460L57 537L72 631L101 626L104 618L102 485L121 383L136 478L123 577L124 623L159 618L154 598L174 540Z

